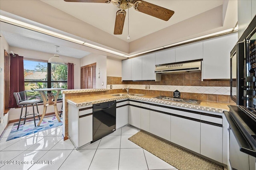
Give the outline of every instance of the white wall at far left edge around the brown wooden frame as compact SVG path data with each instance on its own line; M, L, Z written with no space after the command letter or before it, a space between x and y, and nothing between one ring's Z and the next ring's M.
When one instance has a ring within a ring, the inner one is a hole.
M8 115L4 116L4 50L9 51L9 45L6 42L6 39L4 39L3 35L1 34L0 38L0 117L1 117L1 123L0 123L0 135L4 131L4 128L7 125ZM5 117L5 119L4 119Z

